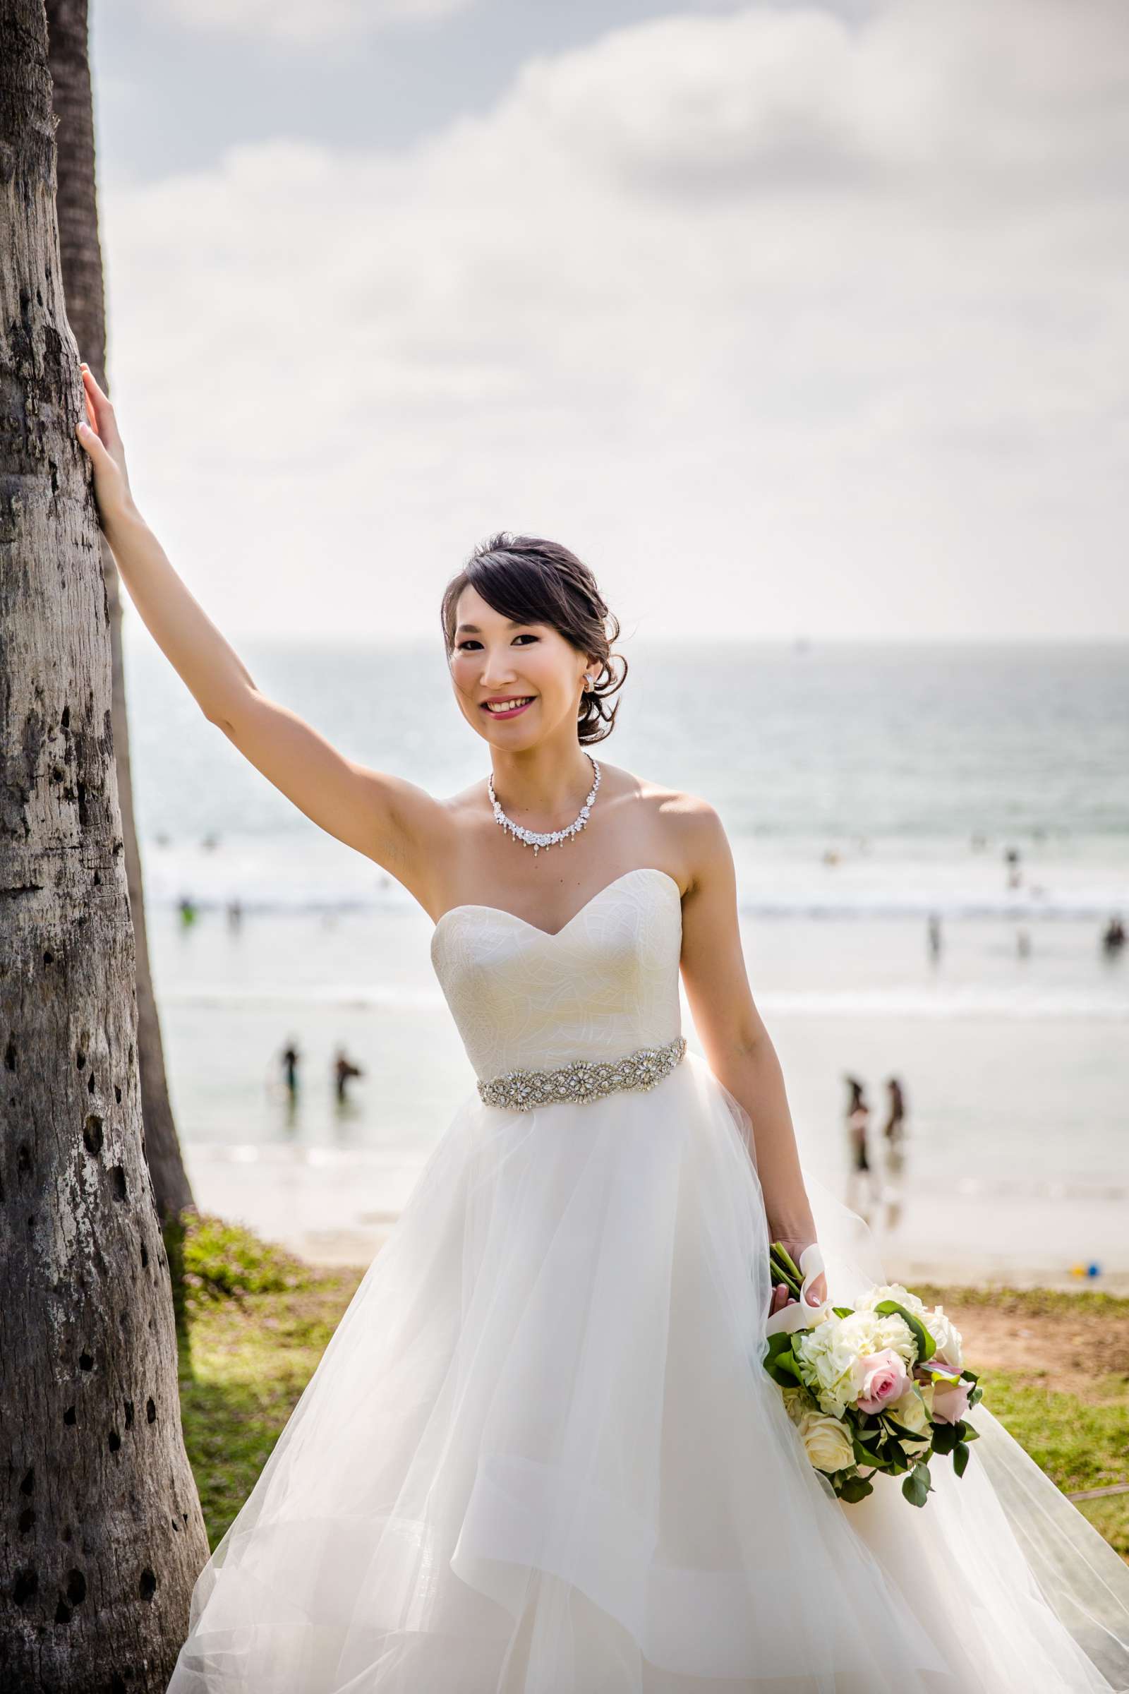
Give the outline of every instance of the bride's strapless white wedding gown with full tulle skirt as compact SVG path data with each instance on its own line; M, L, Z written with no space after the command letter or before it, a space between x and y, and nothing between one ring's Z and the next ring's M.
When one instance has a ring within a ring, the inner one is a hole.
M650 867L557 933L447 911L477 1077L670 1049L680 918ZM982 1408L924 1509L812 1472L760 1367L748 1130L692 1050L584 1101L474 1091L203 1569L169 1694L1129 1687L1126 1567Z

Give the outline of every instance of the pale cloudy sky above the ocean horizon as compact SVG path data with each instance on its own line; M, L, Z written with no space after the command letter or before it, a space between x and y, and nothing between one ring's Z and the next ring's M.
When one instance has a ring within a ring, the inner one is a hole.
M1129 637L1124 0L91 0L110 381L230 635Z

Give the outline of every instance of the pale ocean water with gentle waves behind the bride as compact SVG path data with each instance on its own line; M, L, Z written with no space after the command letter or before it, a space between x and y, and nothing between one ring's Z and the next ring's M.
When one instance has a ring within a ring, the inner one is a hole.
M1110 913L1129 918L1129 649L625 650L603 750L704 794L726 823L750 984L809 1167L843 1191L843 1072L867 1084L875 1128L897 1074L906 1172L875 1171L856 1196L892 1262L1129 1276L1129 952L1100 947ZM240 652L352 757L433 793L487 771L438 640ZM364 1259L472 1088L430 918L203 720L144 630L129 632L127 684L152 967L198 1199ZM339 1045L364 1071L344 1106ZM880 1152L875 1137L875 1165Z

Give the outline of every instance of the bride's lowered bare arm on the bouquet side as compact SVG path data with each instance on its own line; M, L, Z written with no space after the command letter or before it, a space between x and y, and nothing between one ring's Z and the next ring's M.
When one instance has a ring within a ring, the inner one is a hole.
M768 1238L794 1259L816 1240L784 1072L753 1003L741 950L733 852L716 810L687 796L684 827L691 883L682 898L682 981L709 1069L753 1125ZM812 1286L824 1298L823 1277ZM784 1304L780 1291L774 1311Z

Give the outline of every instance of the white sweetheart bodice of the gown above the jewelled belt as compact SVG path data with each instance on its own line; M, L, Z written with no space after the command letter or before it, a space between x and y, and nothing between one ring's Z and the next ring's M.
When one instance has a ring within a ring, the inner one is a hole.
M498 906L452 906L432 966L479 1077L613 1059L680 1033L679 884L626 871L548 935Z

